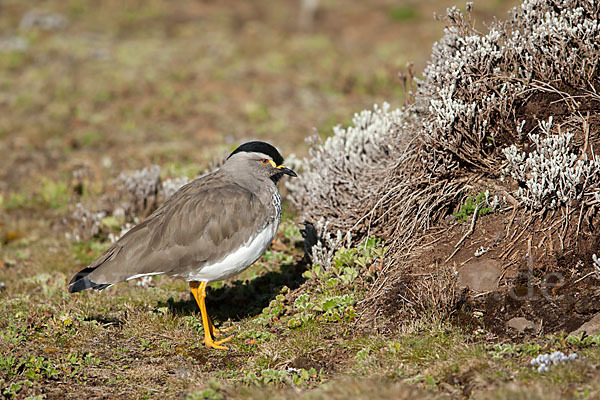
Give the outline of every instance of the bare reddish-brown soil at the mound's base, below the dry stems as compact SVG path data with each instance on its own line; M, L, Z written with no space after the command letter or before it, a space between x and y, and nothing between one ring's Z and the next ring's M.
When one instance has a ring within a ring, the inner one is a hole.
M550 244L552 239L533 229L511 240L509 224L510 215L481 217L450 260L468 227L432 235L435 244L386 282L376 301L378 311L392 321L439 313L468 331L484 328L513 340L571 333L592 319L600 311L600 276L590 274L598 236L561 249L556 238ZM487 252L474 256L482 246ZM509 321L516 318L526 319L529 327L511 327Z

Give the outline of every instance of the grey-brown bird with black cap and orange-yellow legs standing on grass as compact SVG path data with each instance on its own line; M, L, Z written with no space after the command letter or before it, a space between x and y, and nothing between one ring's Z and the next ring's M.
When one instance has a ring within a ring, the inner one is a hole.
M69 293L103 290L144 276L165 274L189 282L202 317L204 344L214 340L206 286L244 271L266 251L281 220L277 183L297 174L271 144L240 145L221 168L181 187L144 221L71 279Z

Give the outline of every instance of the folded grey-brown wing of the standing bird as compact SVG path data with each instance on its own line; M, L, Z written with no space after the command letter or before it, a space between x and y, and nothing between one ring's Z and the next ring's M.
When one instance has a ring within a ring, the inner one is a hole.
M209 175L180 189L83 271L96 285L143 274L186 275L245 244L267 225L268 214L249 190Z

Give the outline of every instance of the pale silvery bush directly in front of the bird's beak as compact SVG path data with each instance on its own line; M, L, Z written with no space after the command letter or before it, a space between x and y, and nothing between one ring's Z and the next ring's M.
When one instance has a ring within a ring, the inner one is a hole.
M399 137L414 126L407 109L389 104L363 110L344 129L336 126L333 136L322 142L310 137L310 158L288 160L299 178L286 181L288 199L307 220L325 218L330 229L349 230L365 203L374 201L390 165L408 156L407 144Z

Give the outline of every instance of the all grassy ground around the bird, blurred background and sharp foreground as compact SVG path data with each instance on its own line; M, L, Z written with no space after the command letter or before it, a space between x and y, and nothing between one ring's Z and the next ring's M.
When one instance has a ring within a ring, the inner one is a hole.
M385 247L370 240L341 249L329 271L307 267L287 210L278 246L211 284L209 313L234 327L229 352L202 345L183 281L67 294L122 223L108 217L99 235L74 243L65 217L77 202L102 210L120 172L152 163L163 178L194 177L248 138L302 155L313 127L325 136L375 102L400 104L398 69L423 68L443 29L430 16L453 2L324 3L312 32L296 28L291 4L154 0L123 11L50 0L44 10L69 26L21 32L22 15L39 5L3 3L0 27L29 48L0 53L0 108L10 111L0 119L2 396L598 397L598 336L504 342L425 315L388 321L389 332L365 327L361 301ZM501 14L484 6L482 20ZM478 198L457 217L472 215ZM581 357L544 374L530 367L554 350Z

